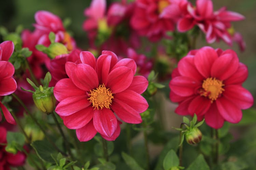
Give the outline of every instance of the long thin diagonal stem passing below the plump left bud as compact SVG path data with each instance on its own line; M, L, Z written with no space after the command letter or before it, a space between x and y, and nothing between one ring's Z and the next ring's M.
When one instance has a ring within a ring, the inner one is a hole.
M22 100L20 100L20 98L15 95L14 93L12 94L12 96L19 102L20 105L23 106L23 108L25 109L25 111L27 112L27 114L32 118L32 120L35 122L35 124L38 125L38 127L41 129L41 131L44 133L45 137L47 138L47 140L52 144L52 146L58 151L60 152L62 155L67 156L66 153L62 152L56 145L55 143L47 136L44 128L41 126L41 124L37 121L37 119L35 119L35 117L30 113L29 109L27 108L27 106L23 103Z

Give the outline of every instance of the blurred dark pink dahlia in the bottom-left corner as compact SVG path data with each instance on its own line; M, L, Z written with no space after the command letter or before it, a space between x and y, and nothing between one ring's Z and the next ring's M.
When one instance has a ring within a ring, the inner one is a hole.
M7 131L3 126L0 126L0 143L7 143ZM5 151L5 146L0 145L0 170L11 170L10 167L18 167L25 164L26 155L20 151L12 154Z

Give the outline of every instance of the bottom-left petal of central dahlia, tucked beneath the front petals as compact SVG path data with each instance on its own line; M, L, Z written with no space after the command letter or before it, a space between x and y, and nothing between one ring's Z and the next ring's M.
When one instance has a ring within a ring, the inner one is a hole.
M93 120L87 123L84 127L77 129L76 131L77 139L80 142L86 142L91 140L97 133L93 125Z

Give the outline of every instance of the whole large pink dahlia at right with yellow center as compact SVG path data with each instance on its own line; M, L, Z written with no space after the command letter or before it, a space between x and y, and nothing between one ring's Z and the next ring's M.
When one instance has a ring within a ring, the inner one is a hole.
M241 109L253 105L253 96L242 87L247 67L232 50L203 47L182 58L169 83L170 99L178 102L179 115L197 114L198 119L219 129L224 121L238 123Z

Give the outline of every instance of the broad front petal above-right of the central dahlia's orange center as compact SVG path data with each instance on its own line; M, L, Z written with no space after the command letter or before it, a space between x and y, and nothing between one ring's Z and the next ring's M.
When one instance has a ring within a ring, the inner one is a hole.
M115 94L127 89L131 85L132 79L133 72L130 68L118 67L109 73L106 87Z

